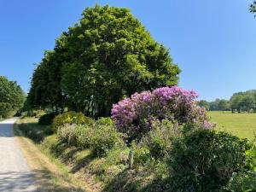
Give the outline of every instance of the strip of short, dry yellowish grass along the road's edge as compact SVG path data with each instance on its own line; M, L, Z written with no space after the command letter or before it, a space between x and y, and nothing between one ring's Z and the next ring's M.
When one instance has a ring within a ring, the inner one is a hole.
M38 126L37 119L21 119L15 125L16 139L26 155L32 172L35 173L39 191L94 191L85 182L74 177L67 166L50 154L48 148L44 148L44 143L41 142L48 133L49 128Z

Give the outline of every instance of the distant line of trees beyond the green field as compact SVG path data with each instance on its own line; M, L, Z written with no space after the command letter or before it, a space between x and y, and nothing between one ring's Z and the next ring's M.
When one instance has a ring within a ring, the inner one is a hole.
M256 113L256 90L237 92L230 100L216 99L214 102L201 100L198 102L201 107L210 111L232 111Z

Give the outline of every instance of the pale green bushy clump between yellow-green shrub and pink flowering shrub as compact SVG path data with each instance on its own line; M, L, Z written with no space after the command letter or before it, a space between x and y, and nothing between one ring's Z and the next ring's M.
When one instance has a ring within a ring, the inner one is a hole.
M58 138L69 145L79 148L90 148L95 156L104 156L112 148L123 148L122 135L113 125L62 125L57 131Z

